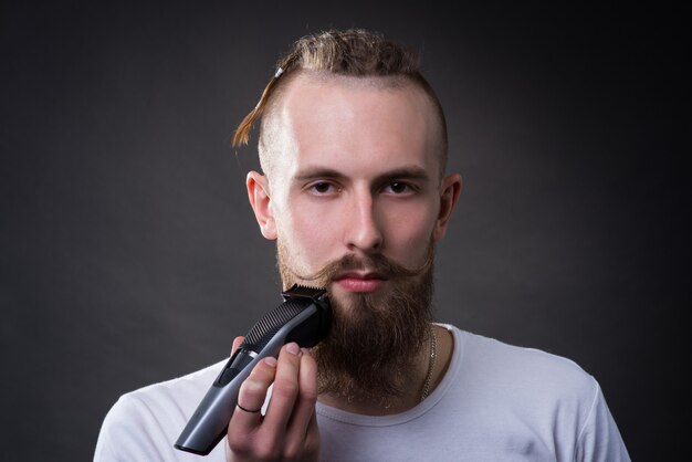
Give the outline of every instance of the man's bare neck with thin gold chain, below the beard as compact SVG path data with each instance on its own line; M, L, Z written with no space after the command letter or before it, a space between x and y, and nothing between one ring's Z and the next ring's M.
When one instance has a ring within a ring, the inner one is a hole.
M430 374L428 395L432 393L444 376L452 353L451 334L439 326L433 325L432 328L437 337L437 351L434 367ZM318 400L323 405L364 416L389 416L412 409L420 403L423 395L430 365L430 343L426 343L424 348L421 348L415 360L411 361L411 374L408 381L415 386L407 387L401 396L354 395L344 397L336 393L322 393Z

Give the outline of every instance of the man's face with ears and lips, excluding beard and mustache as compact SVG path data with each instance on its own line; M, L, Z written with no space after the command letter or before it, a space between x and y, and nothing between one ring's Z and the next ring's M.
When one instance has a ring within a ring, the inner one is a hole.
M439 123L422 91L298 76L274 117L281 148L269 181L249 177L249 192L251 200L258 186L266 193L265 208L256 200L253 208L263 234L279 240L285 285L315 285L308 276L345 255L424 264L460 179L441 180ZM336 274L331 296L377 297L389 283L364 264Z

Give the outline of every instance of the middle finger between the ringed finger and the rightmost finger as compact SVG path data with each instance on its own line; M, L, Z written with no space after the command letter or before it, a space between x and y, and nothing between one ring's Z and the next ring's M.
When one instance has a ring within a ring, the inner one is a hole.
M272 397L266 409L263 426L270 434L283 434L293 412L298 395L298 370L303 353L295 343L281 348Z

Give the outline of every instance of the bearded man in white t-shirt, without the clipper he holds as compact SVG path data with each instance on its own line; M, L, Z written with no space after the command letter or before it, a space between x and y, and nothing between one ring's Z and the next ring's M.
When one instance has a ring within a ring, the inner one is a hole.
M303 38L235 145L260 118L250 203L284 286L327 287L334 321L312 350L289 344L252 370L208 459L629 460L576 364L431 323L434 245L462 181L411 53L361 30ZM222 364L122 397L95 459L198 460L172 444Z

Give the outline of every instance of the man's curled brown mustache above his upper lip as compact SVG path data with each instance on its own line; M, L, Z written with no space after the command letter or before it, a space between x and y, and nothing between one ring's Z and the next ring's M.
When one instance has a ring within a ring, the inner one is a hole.
M295 275L303 281L311 281L318 286L326 287L329 283L334 282L335 277L339 274L357 270L368 270L389 280L415 277L430 270L433 261L434 248L431 244L428 246L426 261L418 267L406 267L386 258L381 253L374 253L365 258L348 254L327 263L316 273Z

